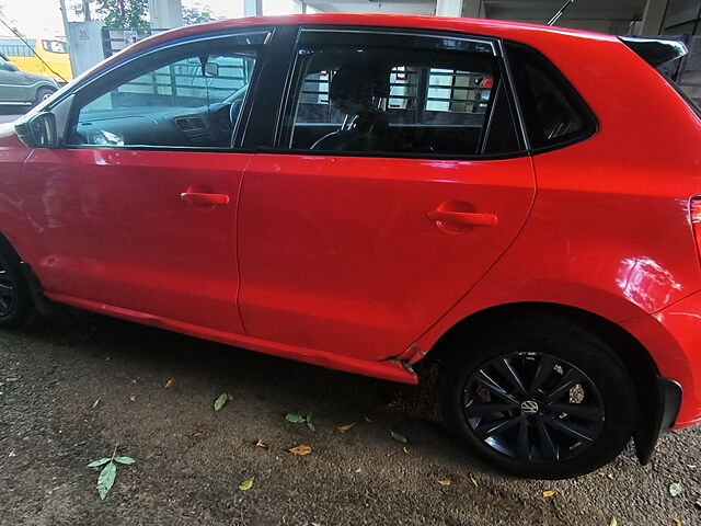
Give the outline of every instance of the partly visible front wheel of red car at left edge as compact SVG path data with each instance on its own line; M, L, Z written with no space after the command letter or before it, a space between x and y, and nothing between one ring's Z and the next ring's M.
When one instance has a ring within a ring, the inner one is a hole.
M7 245L0 244L0 328L23 325L34 312L34 302L26 283L20 258Z

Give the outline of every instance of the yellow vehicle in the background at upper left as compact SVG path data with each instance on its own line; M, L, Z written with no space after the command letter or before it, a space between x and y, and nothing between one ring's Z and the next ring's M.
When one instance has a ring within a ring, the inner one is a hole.
M25 41L26 43L16 36L0 36L0 53L21 71L51 77L61 84L73 78L66 41L59 38L25 38Z

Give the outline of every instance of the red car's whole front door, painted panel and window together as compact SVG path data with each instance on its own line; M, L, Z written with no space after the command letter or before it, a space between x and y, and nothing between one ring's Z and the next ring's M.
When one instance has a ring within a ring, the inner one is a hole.
M49 297L242 332L240 123L267 35L165 45L76 90L65 145L25 165Z

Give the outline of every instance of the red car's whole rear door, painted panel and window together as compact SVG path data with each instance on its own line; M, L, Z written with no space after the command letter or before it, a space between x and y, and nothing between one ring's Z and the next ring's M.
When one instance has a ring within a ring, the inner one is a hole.
M498 42L407 33L300 31L274 148L241 191L252 336L397 356L524 225L535 180Z

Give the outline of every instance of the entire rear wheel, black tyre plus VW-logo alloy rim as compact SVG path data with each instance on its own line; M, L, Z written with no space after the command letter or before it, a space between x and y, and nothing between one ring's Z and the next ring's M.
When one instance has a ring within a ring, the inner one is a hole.
M535 317L452 347L439 376L441 415L490 465L522 478L578 477L630 441L631 377L612 348L582 328Z

